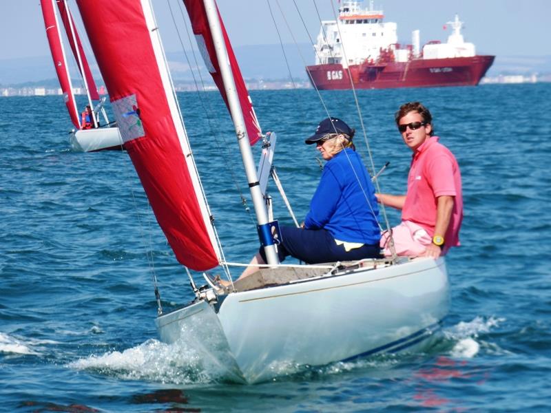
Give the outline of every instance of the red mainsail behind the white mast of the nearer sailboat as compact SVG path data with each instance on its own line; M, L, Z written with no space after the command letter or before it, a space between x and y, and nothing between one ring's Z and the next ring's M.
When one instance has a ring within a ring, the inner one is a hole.
M218 59L216 58L214 41L212 39L211 31L209 28L209 21L205 12L205 5L201 0L183 1L185 7L187 8L187 14L189 14L191 27L194 30L197 45L202 54L202 58L205 61L205 65L207 65L207 69L214 79L214 83L216 83L216 86L220 90L220 94L222 94L222 98L224 98L224 101L228 106L228 99L226 96L226 91L224 89L222 74L220 73L220 65L218 64ZM222 22L222 18L220 17L220 12L218 12L218 19L220 20L220 27L222 28L222 34L224 35L229 64L231 66L231 71L233 72L233 81L236 83L236 89L239 96L241 110L243 112L243 118L245 118L245 126L247 127L249 142L251 142L251 145L254 145L261 138L262 131L260 130L260 125L258 124L256 114L254 113L251 98L249 96L249 92L247 91L247 86L245 86L245 81L243 81L243 77L239 70L236 56L235 54L233 54L233 49L231 48L231 44L229 43L229 38L226 33L224 23Z

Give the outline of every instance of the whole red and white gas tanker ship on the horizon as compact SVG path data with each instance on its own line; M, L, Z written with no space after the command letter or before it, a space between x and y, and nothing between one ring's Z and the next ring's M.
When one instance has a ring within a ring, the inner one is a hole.
M322 21L314 45L315 65L306 66L318 89L389 89L478 85L495 56L481 56L466 43L463 22L448 21L446 43L429 41L419 47L419 30L412 42L397 42L397 24L384 22L382 10L368 9L362 1L342 2L338 21Z

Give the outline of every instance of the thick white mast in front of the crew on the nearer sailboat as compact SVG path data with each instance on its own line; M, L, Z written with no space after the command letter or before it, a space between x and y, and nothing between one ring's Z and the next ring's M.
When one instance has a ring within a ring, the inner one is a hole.
M220 65L220 74L224 80L224 88L228 98L229 112L233 119L233 125L236 127L236 135L239 143L239 149L241 151L241 158L243 165L245 166L245 173L247 174L247 181L249 182L249 188L251 190L251 198L253 200L253 207L256 212L256 220L260 227L268 224L268 212L266 205L264 204L264 197L260 190L260 184L258 182L258 175L256 173L256 165L253 160L253 153L251 151L251 145L249 144L249 136L247 134L247 128L245 127L245 119L239 103L239 97L237 94L236 83L233 80L233 74L229 65L229 58L222 36L222 29L220 27L220 20L218 19L218 9L214 0L204 0L205 10L207 12L207 19L209 20L209 26L211 28L212 38L214 40L214 48L216 50L216 56L218 57L218 64ZM275 245L264 246L264 252L268 264L279 264L278 254L275 252Z

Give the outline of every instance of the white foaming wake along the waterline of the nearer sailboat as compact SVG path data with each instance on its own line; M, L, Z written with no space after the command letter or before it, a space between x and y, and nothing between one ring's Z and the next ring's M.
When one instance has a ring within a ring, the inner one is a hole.
M475 357L481 348L499 351L499 348L480 338L492 328L504 321L495 317L475 317L472 321L461 321L454 326L444 328L435 334L428 345L404 352L402 354L377 354L372 357L357 359L349 362L335 362L326 366L297 366L282 363L270 366L275 381L293 379L313 379L333 374L346 374L353 370L365 369L374 374L384 374L400 366L402 361L419 354L437 355L446 354L453 359L469 359ZM5 340L4 340L5 341ZM0 350L2 350L3 336L0 335ZM13 341L12 345L17 342ZM198 343L183 340L176 343L163 343L156 339L149 339L139 346L128 348L122 352L113 351L101 355L92 355L85 359L72 361L67 366L76 370L87 370L117 377L123 380L145 380L160 383L179 385L205 385L211 383L240 382L228 363L222 362L227 354L211 354ZM17 346L16 346L17 347ZM21 352L25 347L21 346ZM32 351L32 350L28 350ZM221 351L225 353L225 351Z

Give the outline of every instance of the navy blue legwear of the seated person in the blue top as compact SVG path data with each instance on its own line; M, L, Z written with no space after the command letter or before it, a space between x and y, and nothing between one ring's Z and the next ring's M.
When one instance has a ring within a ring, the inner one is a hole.
M300 229L294 226L280 226L282 242L278 245L280 262L291 255L306 264L321 262L355 261L364 258L380 258L381 248L377 244L364 244L346 252L343 245L337 245L335 238L326 229ZM260 247L262 260L266 261L264 248Z

